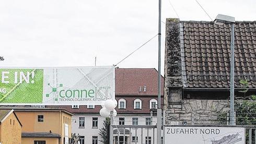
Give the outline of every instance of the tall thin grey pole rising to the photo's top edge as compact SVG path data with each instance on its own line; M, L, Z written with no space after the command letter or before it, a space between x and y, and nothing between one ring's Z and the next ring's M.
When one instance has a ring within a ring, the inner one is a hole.
M157 144L161 144L162 110L161 110L161 0L158 11L158 99L157 99Z

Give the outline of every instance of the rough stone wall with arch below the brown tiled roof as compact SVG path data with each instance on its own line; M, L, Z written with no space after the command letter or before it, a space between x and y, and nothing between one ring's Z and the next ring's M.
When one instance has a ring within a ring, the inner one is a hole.
M168 105L165 124L219 124L218 114L228 110L228 100L182 100L181 104Z

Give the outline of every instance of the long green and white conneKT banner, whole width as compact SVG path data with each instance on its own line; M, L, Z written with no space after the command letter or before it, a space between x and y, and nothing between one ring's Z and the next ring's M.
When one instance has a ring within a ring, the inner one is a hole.
M0 68L1 105L101 105L114 99L113 66Z

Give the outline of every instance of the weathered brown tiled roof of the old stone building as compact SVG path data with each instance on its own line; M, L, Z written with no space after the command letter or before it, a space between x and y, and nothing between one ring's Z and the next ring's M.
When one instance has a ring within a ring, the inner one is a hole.
M166 40L167 47L168 50L171 48L167 56L180 55L184 88L230 87L230 24L215 25L213 21L173 22L167 19L166 25L167 35L170 35ZM171 25L178 27L174 31L178 35L170 28ZM175 34L179 40L173 44L172 35ZM177 44L181 52L173 54ZM235 22L234 45L235 87L241 88L239 80L248 79L248 88L255 88L256 21Z

